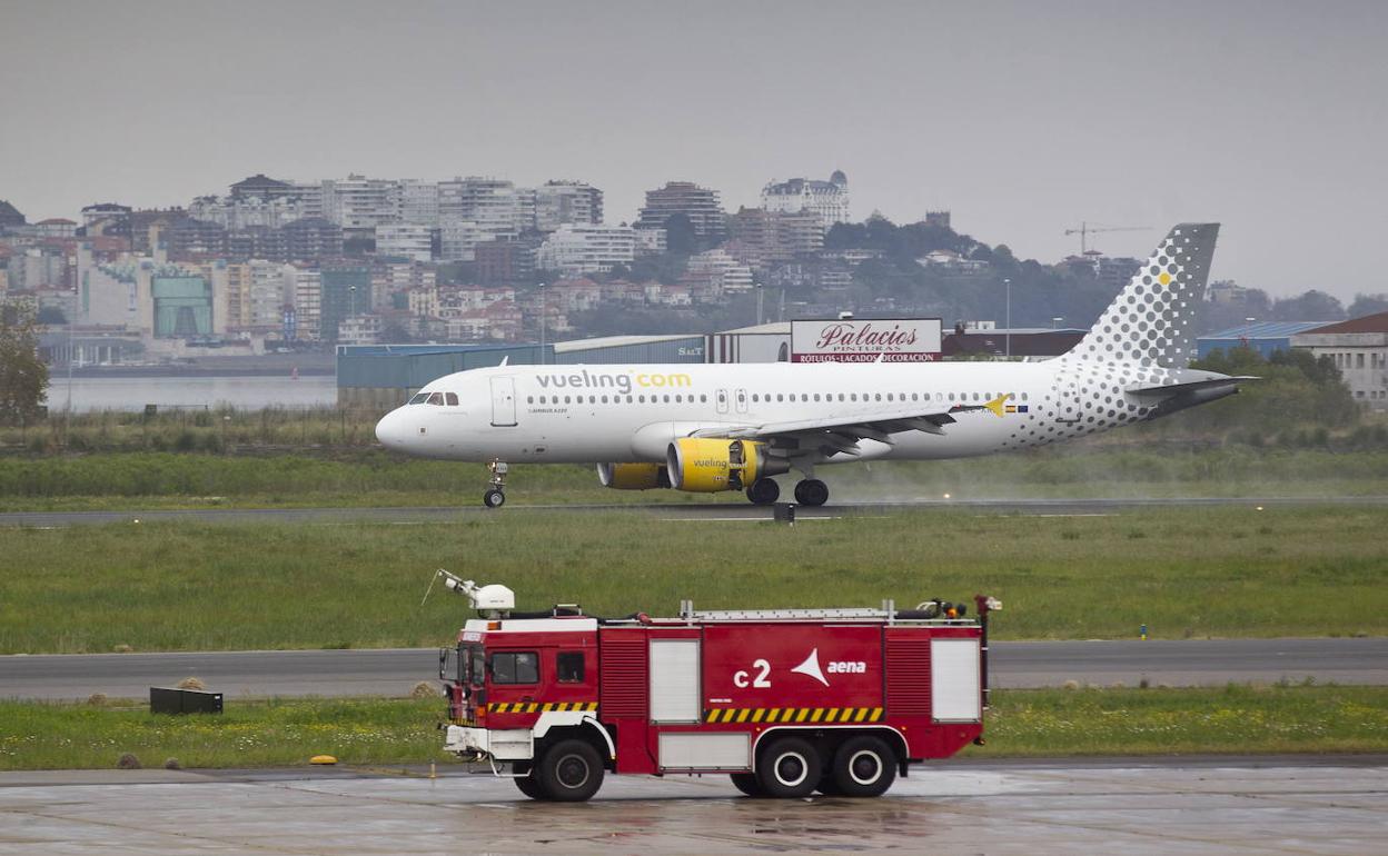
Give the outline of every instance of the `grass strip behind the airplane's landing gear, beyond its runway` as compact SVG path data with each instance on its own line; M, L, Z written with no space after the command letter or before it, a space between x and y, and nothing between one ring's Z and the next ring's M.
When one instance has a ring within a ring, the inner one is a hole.
M823 468L836 501L917 497L1323 497L1388 491L1388 452L1073 444L970 461ZM790 479L783 479L790 495ZM96 452L0 456L0 511L476 505L482 465L379 450L239 455ZM587 466L512 469L509 501L736 502L740 494L613 491Z

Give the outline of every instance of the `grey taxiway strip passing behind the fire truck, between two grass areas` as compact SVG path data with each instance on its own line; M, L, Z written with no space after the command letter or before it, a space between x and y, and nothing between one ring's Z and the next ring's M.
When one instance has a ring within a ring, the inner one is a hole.
M1388 685L1388 638L992 642L995 688L1301 683ZM147 698L196 676L226 698L407 695L436 681L433 648L0 656L0 696Z

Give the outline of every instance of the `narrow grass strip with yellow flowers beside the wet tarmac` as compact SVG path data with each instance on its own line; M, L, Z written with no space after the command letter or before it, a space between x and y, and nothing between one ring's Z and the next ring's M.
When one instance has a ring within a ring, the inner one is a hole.
M144 766L303 766L451 762L440 752L441 699L300 699L230 703L221 716L0 702L0 770ZM965 756L1384 752L1385 687L997 691L985 746Z

